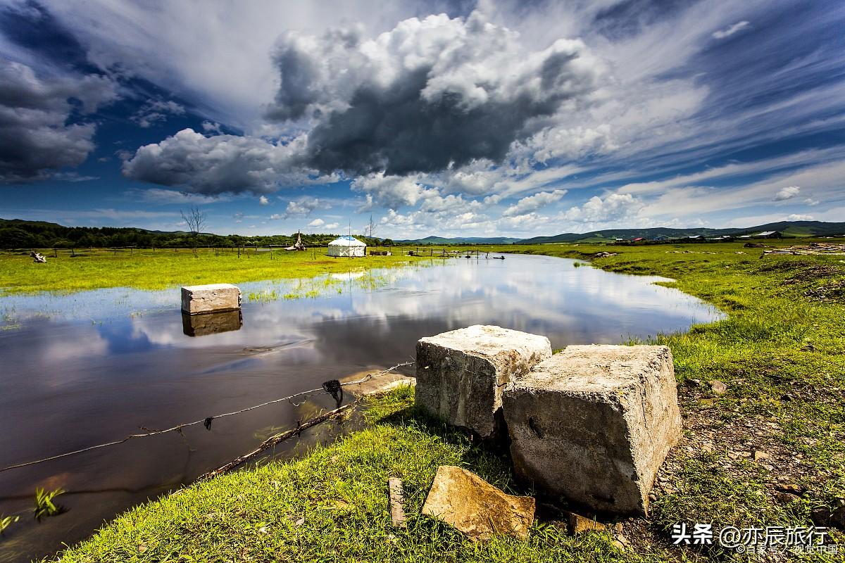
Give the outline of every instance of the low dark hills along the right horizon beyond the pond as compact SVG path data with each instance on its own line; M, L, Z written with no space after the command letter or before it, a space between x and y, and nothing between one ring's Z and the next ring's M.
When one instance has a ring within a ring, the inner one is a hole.
M593 230L588 233L561 233L553 236L534 236L522 239L517 244L544 244L549 242L604 242L616 238L627 241L643 237L653 239L664 235L669 238L702 235L706 237L721 235L751 235L764 230L778 230L784 236L830 236L845 235L845 223L825 223L823 221L778 221L743 229L706 229L694 227L690 229L669 229L668 227L652 227L648 229L606 229Z

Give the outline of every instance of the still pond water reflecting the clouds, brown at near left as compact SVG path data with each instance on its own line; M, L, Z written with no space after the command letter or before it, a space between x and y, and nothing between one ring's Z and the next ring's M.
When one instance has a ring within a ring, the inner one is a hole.
M574 264L457 258L240 284L253 298L245 299L243 317L210 320L183 319L178 288L2 297L0 467L412 360L418 338L472 324L544 334L557 349L683 331L719 317L700 300L655 285L657 278ZM0 512L22 514L0 539L0 561L52 555L104 519L190 483L332 404L327 397L278 403L215 420L211 430L199 425L184 436L0 473ZM36 523L26 512L36 487L68 490L59 497L68 512Z

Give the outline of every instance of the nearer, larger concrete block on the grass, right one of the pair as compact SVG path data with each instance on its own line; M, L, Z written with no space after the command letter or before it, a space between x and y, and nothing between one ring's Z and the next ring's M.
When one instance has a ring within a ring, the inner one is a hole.
M597 511L646 512L681 435L666 346L570 346L504 389L516 474Z

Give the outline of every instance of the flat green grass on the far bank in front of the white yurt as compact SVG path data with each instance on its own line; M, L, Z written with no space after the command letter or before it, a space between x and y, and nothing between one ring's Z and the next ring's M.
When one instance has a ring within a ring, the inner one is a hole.
M238 256L226 249L126 250L95 249L85 252L46 252L47 263L33 263L27 254L0 252L0 292L73 292L106 287L163 290L174 285L310 278L351 268L390 268L419 260L395 249L392 256L332 258L325 248L306 252L254 252ZM0 293L2 295L2 293Z

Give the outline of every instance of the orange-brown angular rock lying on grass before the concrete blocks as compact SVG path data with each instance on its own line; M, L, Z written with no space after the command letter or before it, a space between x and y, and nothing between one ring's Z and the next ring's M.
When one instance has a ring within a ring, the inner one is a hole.
M528 537L536 502L530 496L506 495L466 469L437 468L423 514L438 518L474 540L504 533Z

